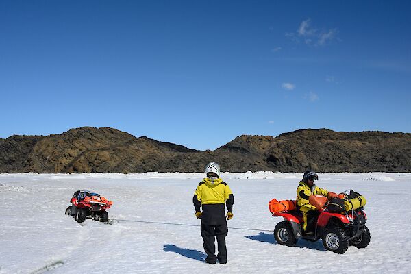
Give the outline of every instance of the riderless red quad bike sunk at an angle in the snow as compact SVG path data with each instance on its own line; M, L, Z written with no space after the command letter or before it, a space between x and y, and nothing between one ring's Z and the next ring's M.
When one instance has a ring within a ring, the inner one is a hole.
M112 201L88 190L77 190L70 199L71 206L66 208L66 215L71 215L78 223L83 223L86 218L95 221L107 222L107 210L112 206Z

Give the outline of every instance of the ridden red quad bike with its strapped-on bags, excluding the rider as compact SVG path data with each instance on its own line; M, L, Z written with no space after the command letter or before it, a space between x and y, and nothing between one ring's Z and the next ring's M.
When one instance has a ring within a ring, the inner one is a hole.
M369 245L371 234L366 227L366 214L364 212L365 198L360 195L349 199L347 193L356 193L352 190L338 195L345 197L340 200L333 199L319 209L318 219L314 223L314 234L307 235L301 229L303 216L295 208L295 201L277 201L273 199L269 208L273 216L281 216L284 221L277 223L274 229L274 237L280 245L294 247L297 240L316 241L321 239L325 249L343 254L349 245L357 248L365 248ZM356 193L358 194L358 193ZM343 200L343 202L341 202ZM278 206L284 206L284 210L277 210ZM294 205L294 206L293 206ZM277 206L275 208L275 206Z

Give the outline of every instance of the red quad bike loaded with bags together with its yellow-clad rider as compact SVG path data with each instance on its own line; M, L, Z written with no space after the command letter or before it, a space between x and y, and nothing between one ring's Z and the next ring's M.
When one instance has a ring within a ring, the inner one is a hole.
M365 226L365 198L352 190L340 195L314 184L318 175L306 171L297 187L297 201L273 199L269 208L273 216L282 216L274 230L280 245L295 246L298 238L316 241L325 249L345 253L348 246L366 247L371 239Z

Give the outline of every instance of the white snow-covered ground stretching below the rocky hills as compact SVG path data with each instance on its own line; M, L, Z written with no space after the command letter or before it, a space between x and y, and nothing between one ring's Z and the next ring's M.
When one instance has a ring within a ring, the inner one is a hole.
M295 199L301 174L223 173L235 197L228 263L206 264L192 195L202 173L0 174L0 273L410 273L410 173L321 173L319 186L367 199L371 243L343 255L322 242L277 245L268 202ZM86 188L110 221L64 215Z

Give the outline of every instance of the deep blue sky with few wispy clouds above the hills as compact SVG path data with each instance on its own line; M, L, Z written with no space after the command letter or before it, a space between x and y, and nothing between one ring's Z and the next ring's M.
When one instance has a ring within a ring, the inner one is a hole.
M408 1L0 1L0 138L411 132Z

